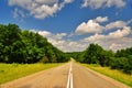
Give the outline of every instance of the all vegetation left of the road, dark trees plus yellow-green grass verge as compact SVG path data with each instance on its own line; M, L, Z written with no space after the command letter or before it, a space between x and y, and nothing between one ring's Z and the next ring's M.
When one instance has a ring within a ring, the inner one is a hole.
M15 24L0 24L0 84L68 61L66 53L38 33L21 30Z

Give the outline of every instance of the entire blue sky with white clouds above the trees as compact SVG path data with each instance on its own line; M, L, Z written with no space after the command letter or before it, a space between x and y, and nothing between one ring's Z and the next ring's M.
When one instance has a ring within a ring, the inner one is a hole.
M9 23L63 52L132 47L132 0L0 0L0 24Z

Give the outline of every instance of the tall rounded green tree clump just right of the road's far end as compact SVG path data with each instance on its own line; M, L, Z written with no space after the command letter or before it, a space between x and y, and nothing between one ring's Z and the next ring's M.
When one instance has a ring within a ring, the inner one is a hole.
M113 56L112 51L105 51L98 44L90 44L86 51L75 53L74 57L81 63L109 66L111 56Z

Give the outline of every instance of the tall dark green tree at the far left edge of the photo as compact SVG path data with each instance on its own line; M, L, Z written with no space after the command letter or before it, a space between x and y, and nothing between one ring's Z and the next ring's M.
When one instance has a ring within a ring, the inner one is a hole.
M1 55L0 59L2 62L9 62L12 55L12 44L16 42L20 37L20 29L15 24L2 25L0 24L0 43L1 43Z

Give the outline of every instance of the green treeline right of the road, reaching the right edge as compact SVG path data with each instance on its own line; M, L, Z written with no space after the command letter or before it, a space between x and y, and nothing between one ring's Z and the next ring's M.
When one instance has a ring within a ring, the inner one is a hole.
M109 66L111 69L120 69L127 74L132 74L132 47L113 53L103 50L98 44L90 44L86 51L68 53L68 55L80 63L99 64L102 67Z

